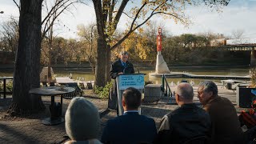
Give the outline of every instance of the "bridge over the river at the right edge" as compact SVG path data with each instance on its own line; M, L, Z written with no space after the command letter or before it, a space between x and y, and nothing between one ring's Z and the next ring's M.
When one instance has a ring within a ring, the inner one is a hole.
M232 51L250 51L250 66L256 66L256 38L214 39L210 46L222 46Z

